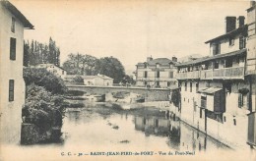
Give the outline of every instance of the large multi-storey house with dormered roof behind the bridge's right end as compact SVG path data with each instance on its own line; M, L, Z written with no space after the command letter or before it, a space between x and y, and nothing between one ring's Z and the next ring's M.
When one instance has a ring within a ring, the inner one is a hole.
M177 80L175 79L176 64L176 57L172 57L172 60L148 57L147 62L136 65L136 85L151 87L177 86Z

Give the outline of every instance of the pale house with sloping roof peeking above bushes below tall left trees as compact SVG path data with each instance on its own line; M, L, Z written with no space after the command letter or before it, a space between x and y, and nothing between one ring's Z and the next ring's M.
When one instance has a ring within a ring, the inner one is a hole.
M67 72L63 68L58 67L54 64L38 64L38 65L34 66L34 68L46 69L48 72L50 72L53 75L60 77L62 79L64 79L65 76L67 75Z

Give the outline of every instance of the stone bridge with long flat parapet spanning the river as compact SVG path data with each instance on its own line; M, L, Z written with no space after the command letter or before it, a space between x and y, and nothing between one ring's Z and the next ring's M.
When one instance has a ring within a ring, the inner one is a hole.
M126 86L89 86L66 84L69 90L79 90L90 94L105 94L108 92L125 91L137 93L145 96L145 101L167 101L171 89L169 88L146 88L146 87L126 87Z

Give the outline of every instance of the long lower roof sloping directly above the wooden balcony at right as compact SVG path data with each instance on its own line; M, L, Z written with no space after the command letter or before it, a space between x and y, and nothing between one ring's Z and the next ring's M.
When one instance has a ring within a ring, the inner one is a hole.
M233 52L229 52L229 53L225 53L225 54L219 54L219 55L215 55L212 57L204 57L201 59L196 59L194 61L190 61L190 62L184 62L181 64L176 65L177 67L183 67L183 66L188 66L188 65L194 65L194 64L199 64L199 63L203 63L203 62L207 62L210 60L215 60L215 59L221 59L221 58L225 58L225 57L231 57L231 56L235 56L235 55L240 55L246 52L246 49L241 49L241 50L236 50Z

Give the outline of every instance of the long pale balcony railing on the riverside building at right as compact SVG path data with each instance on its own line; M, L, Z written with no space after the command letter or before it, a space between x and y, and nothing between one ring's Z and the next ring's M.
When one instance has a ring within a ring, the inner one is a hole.
M213 80L213 79L243 79L244 67L231 67L215 70L203 70L187 73L178 73L177 80L186 79L201 79L201 80Z

